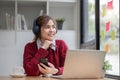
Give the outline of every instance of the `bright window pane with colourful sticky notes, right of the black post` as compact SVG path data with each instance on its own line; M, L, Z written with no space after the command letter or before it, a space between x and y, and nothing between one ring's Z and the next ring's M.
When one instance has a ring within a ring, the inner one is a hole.
M119 0L100 0L100 50L112 64L108 74L119 75Z

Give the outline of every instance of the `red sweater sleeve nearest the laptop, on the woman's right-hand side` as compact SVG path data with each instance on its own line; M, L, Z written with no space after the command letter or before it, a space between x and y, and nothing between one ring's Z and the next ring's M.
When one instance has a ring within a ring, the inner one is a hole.
M63 40L60 40L60 47L59 47L59 51L60 51L60 64L58 67L58 73L57 75L62 75L63 74L63 70L64 70L64 62L65 62L65 58L66 58L66 53L68 50L68 46L66 45L66 43Z

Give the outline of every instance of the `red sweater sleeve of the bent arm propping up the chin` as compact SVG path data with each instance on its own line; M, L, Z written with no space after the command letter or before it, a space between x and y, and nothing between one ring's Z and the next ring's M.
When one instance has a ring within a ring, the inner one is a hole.
M27 76L38 76L40 75L40 71L38 69L37 64L39 63L39 58L44 58L48 55L48 51L40 48L39 50L35 50L32 44L27 44L24 48L24 56L23 56L23 67L25 69L25 73Z

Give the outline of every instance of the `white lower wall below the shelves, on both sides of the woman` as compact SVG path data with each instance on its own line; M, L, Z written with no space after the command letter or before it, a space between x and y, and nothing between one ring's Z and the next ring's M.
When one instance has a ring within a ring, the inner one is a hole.
M26 43L33 40L32 31L0 31L0 76L10 75L15 66L22 66ZM60 30L57 39L63 39L69 49L76 48L76 32Z

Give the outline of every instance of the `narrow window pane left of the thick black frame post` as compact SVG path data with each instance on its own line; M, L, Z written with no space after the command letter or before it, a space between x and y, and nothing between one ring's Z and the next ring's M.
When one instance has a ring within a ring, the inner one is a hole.
M95 0L81 0L80 6L81 48L96 49Z

